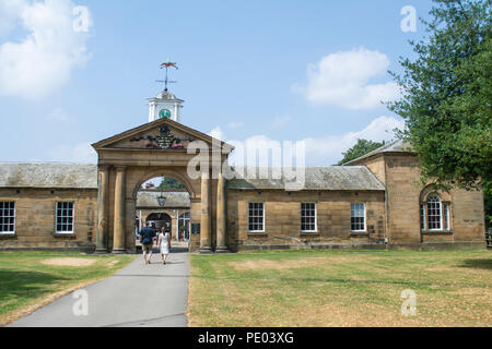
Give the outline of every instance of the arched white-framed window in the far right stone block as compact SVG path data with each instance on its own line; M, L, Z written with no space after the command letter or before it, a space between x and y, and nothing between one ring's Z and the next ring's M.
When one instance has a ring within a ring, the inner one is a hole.
M443 203L437 195L430 195L420 206L422 230L450 230L449 203Z

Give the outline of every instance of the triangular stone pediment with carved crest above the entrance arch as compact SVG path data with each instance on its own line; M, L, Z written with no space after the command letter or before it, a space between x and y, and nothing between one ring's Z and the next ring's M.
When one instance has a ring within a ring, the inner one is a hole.
M231 145L179 122L160 119L94 143L92 146L96 151L104 148L177 151L186 149L195 141L202 141L211 147L213 140L222 148L230 149L227 153L233 149Z

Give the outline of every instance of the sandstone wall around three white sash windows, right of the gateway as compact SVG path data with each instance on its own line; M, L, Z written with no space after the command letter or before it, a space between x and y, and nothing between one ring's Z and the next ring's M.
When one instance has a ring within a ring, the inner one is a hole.
M265 203L265 232L248 232L248 203ZM317 232L301 231L301 203L317 204ZM350 204L365 203L367 233L351 232ZM274 246L382 244L384 192L227 191L227 243L232 250Z

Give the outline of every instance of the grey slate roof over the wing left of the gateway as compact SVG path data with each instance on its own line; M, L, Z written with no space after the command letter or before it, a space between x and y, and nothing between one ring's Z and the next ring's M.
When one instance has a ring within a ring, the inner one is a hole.
M0 163L0 186L97 189L97 165Z

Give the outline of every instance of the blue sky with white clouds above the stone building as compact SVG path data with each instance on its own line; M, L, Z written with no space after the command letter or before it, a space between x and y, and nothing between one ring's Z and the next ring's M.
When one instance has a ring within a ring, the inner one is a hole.
M73 31L75 5L87 32ZM331 165L402 125L378 98L424 34L401 31L405 5L425 17L432 2L0 0L0 161L95 161L89 144L148 121L171 58L183 123L304 140L307 165Z

